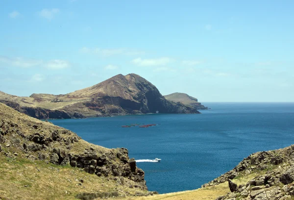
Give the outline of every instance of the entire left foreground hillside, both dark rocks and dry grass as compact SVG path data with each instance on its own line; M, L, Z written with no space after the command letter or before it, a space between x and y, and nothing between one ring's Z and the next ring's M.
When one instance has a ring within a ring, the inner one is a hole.
M49 180L44 179L48 173ZM85 178L80 180L79 176ZM62 181L56 183L59 179ZM82 187L85 181L89 188ZM66 192L57 189L59 184ZM118 196L150 194L144 172L136 167L134 159L129 159L127 149L90 144L70 130L0 103L0 199L54 199L56 194L61 199L74 199L82 195L78 192L95 196L110 189ZM34 192L38 194L32 197ZM25 194L26 198L22 198Z

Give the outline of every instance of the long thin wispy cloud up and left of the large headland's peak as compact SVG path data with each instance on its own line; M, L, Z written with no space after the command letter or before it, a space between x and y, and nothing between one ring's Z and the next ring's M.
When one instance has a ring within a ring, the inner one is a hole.
M113 55L142 55L144 51L128 50L128 49L100 49L83 47L79 50L81 53L97 54L99 56L108 57Z

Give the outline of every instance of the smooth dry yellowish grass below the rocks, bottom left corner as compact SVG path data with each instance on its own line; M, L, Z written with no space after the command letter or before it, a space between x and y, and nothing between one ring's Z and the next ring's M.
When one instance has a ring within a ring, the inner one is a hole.
M83 182L80 182L80 180ZM142 190L118 184L113 177L90 175L78 168L56 166L25 158L11 160L0 156L0 199L73 200L79 193L134 195ZM128 199L128 198L126 198Z

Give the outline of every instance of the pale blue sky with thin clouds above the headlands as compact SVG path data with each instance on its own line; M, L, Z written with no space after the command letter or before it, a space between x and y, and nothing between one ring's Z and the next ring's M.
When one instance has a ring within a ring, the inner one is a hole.
M135 73L200 102L294 102L293 0L0 0L0 91Z

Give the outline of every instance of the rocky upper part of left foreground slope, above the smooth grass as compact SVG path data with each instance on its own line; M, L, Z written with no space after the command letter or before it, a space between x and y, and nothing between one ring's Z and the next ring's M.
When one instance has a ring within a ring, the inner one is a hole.
M147 193L144 172L136 167L134 159L129 159L126 149L106 149L87 143L72 131L28 117L2 103L0 157L1 160L3 157L16 161L41 160L56 166L71 166L102 179L114 179L117 185L125 184L125 188Z

